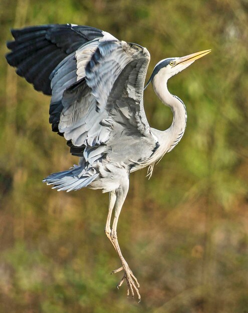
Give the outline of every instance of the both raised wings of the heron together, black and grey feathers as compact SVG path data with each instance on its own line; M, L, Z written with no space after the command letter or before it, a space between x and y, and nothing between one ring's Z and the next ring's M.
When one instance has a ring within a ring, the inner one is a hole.
M90 163L104 154L133 160L150 156L157 142L143 108L150 59L145 48L73 24L32 26L12 34L8 62L35 89L52 94L49 121L73 154Z

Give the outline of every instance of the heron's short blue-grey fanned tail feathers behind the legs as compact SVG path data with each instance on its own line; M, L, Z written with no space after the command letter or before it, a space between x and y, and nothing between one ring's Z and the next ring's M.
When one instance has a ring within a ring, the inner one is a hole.
M82 166L74 165L73 168L53 173L43 179L48 185L54 185L53 189L61 190L78 190L87 187L96 177L98 173L94 168L85 170Z

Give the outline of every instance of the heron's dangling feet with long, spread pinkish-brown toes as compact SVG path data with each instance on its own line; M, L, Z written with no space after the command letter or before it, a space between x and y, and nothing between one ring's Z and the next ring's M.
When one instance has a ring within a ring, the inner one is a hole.
M139 299L139 302L140 302L141 296L139 294L139 282L138 282L137 278L134 276L133 272L131 271L131 269L129 268L127 263L124 264L123 266L121 266L120 268L113 270L111 272L111 274L115 274L121 270L124 270L124 275L123 275L122 279L120 280L120 282L117 284L117 289L119 289L119 287L123 284L124 280L126 280L126 282L127 282L127 296L129 296L129 294L131 293L132 298L134 298L134 292L136 292L138 299Z

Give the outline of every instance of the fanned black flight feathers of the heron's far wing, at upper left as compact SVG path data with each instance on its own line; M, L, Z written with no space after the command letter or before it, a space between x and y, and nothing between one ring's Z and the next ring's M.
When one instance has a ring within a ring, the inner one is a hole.
M49 76L54 68L84 43L104 36L100 29L74 24L48 24L12 29L12 52L6 55L17 73L34 84L36 90L52 94Z

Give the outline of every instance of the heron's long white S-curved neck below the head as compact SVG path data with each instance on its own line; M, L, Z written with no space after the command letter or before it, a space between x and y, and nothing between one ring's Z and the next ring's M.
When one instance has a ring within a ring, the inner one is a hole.
M184 103L177 96L171 94L167 88L167 79L162 75L155 75L152 80L152 85L155 93L160 100L167 106L169 106L173 112L173 121L170 127L164 130L166 141L168 144L168 151L172 150L173 147L181 139L187 122L187 112Z

